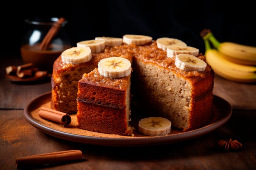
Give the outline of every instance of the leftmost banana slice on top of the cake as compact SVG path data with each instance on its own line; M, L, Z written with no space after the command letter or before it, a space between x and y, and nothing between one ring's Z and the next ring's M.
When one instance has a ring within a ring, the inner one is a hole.
M66 64L80 64L92 59L89 47L73 47L61 53L61 60Z

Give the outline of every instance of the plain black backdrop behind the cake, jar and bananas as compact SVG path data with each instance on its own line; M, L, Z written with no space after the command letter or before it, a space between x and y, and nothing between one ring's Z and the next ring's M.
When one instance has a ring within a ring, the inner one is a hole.
M178 38L204 52L200 31L209 28L221 41L256 46L255 7L246 1L26 1L1 6L4 54L19 56L24 22L33 17L64 17L73 46L97 36L142 34Z

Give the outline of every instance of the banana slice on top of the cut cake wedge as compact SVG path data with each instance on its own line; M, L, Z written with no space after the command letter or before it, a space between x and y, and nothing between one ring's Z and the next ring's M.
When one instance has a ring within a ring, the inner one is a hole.
M131 62L122 57L110 57L98 63L100 75L109 78L122 78L131 74Z

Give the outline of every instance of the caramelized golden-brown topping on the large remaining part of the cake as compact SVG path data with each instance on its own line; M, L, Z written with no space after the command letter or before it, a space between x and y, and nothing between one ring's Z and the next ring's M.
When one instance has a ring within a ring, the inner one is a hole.
M124 44L115 47L106 47L104 52L92 54L92 59L89 62L81 63L81 64L65 64L61 60L61 56L54 63L53 73L57 71L72 69L75 67L81 67L90 64L97 67L98 62L101 59L109 58L113 56L121 56L122 58L126 58L132 62L132 56L135 59L143 60L146 63L154 63L166 69L169 69L176 73L176 75L188 78L193 82L200 81L210 74L213 74L211 67L207 64L205 71L184 71L175 66L175 58L168 58L166 56L166 51L157 48L156 41L146 45L135 45L135 44ZM198 55L198 58L205 61L205 56L202 54Z

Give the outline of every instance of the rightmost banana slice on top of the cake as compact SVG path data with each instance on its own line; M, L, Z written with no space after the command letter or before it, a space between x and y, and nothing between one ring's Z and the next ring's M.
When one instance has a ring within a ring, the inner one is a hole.
M206 63L189 54L179 54L175 58L175 66L185 71L205 71Z

